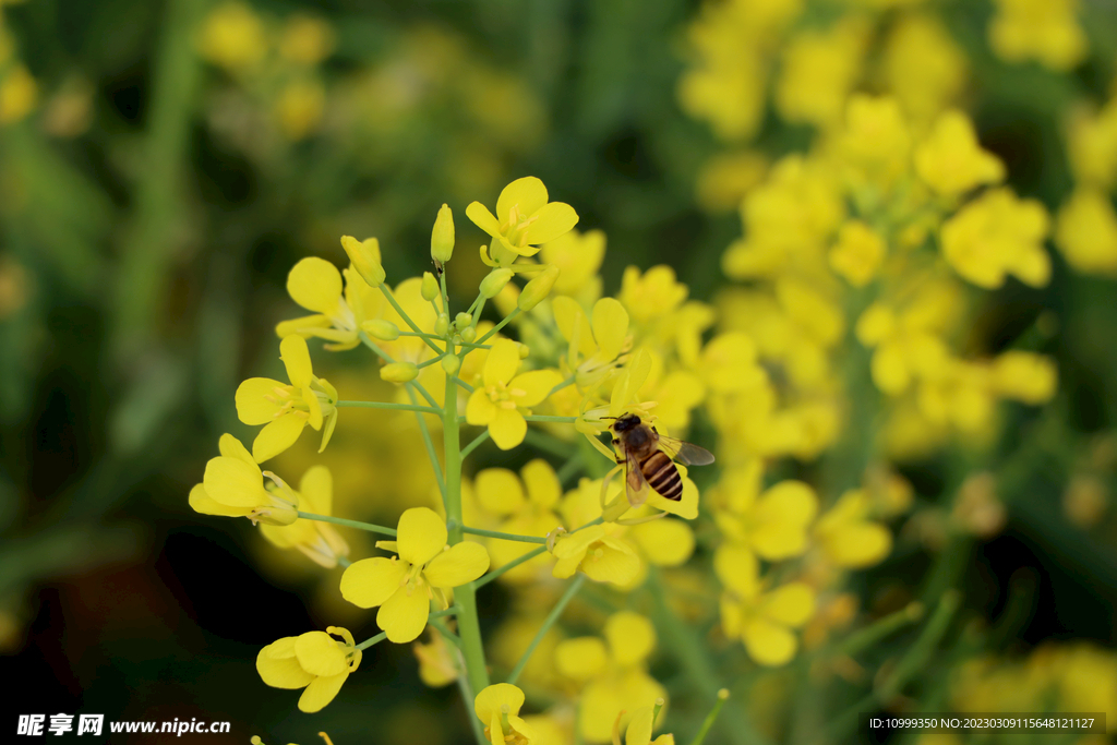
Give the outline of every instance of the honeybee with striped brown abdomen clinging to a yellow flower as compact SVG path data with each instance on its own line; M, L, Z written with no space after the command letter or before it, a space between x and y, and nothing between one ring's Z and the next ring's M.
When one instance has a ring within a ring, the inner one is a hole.
M624 488L633 507L648 498L648 486L667 499L678 502L682 498L682 477L674 461L684 466L714 462L714 453L709 450L660 434L633 413L621 414L609 429L613 433L613 445L624 453L617 462L624 466Z

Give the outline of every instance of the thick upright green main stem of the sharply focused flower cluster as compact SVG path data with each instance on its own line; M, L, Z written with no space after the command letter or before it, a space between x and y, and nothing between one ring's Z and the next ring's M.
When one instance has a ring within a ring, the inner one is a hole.
M446 376L446 404L442 409L442 445L446 469L446 518L450 545L461 543L461 432L458 423L458 390L454 375ZM435 461L437 464L437 461ZM436 465L437 469L437 465ZM488 668L485 663L485 647L481 643L481 628L477 619L477 595L474 584L467 583L454 591L458 613L458 638L461 639L461 656L466 662L469 688L480 691L488 687ZM467 710L472 701L466 701Z

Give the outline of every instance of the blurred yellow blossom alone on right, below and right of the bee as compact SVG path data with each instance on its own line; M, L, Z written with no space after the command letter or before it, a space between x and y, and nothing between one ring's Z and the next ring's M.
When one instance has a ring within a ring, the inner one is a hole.
M863 569L885 560L892 550L892 534L869 519L872 499L865 489L846 491L819 518L814 537L837 566Z

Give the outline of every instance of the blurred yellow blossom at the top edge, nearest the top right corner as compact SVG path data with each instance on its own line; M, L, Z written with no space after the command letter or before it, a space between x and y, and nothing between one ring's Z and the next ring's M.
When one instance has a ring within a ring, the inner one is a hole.
M1086 56L1086 34L1075 17L1077 0L994 0L994 4L989 41L1002 59L1037 59L1051 69L1068 70Z

